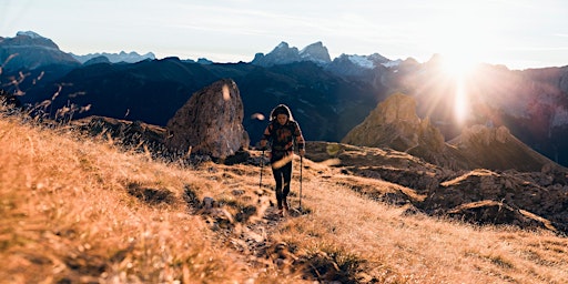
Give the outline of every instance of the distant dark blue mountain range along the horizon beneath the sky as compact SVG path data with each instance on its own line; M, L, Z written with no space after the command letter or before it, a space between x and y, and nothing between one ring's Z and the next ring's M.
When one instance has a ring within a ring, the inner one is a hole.
M34 32L19 32L0 38L0 83L47 115L68 108L63 115L70 119L102 115L165 125L195 91L232 78L253 144L266 124L253 114L267 114L277 103L292 108L307 140L333 142L342 141L379 102L402 92L416 100L418 116L428 118L446 141L475 124L506 126L525 144L568 165L568 67L520 71L479 64L465 81L470 109L463 125L450 111L458 85L445 75L439 55L425 63L379 53L332 60L322 42L301 50L282 42L251 62L152 57L140 55L138 62L116 59L120 54L80 58Z

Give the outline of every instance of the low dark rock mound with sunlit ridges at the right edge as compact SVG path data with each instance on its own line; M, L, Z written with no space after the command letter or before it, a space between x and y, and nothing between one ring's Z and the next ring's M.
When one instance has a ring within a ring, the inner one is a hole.
M558 173L475 170L440 183L418 206L479 223L566 232L568 185L566 172Z

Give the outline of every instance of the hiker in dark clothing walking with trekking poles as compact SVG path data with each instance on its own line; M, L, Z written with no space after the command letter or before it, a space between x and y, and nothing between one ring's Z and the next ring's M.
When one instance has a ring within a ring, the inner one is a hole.
M271 123L264 130L261 139L261 148L265 149L270 141L271 152L268 154L272 164L272 174L276 181L276 201L278 215L284 216L288 211L286 197L290 193L290 181L292 180L292 159L294 153L294 139L298 153L304 156L305 142L300 125L292 118L292 112L285 104L278 104L271 112Z

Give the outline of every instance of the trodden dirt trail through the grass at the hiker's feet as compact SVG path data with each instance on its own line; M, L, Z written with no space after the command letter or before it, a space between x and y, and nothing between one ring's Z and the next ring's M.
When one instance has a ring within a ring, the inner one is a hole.
M295 175L298 174L296 170ZM283 217L274 204L274 181L270 168L263 166L262 184L258 184L260 172L260 166L251 165L210 168L203 176L223 184L225 190L219 194L220 200L204 196L201 197L203 201L186 201L192 213L202 215L210 224L217 241L237 252L239 258L253 271L297 272L301 270L300 257L291 252L288 244L273 235L290 220L307 214L296 207L298 176L293 178L288 195L293 207Z

